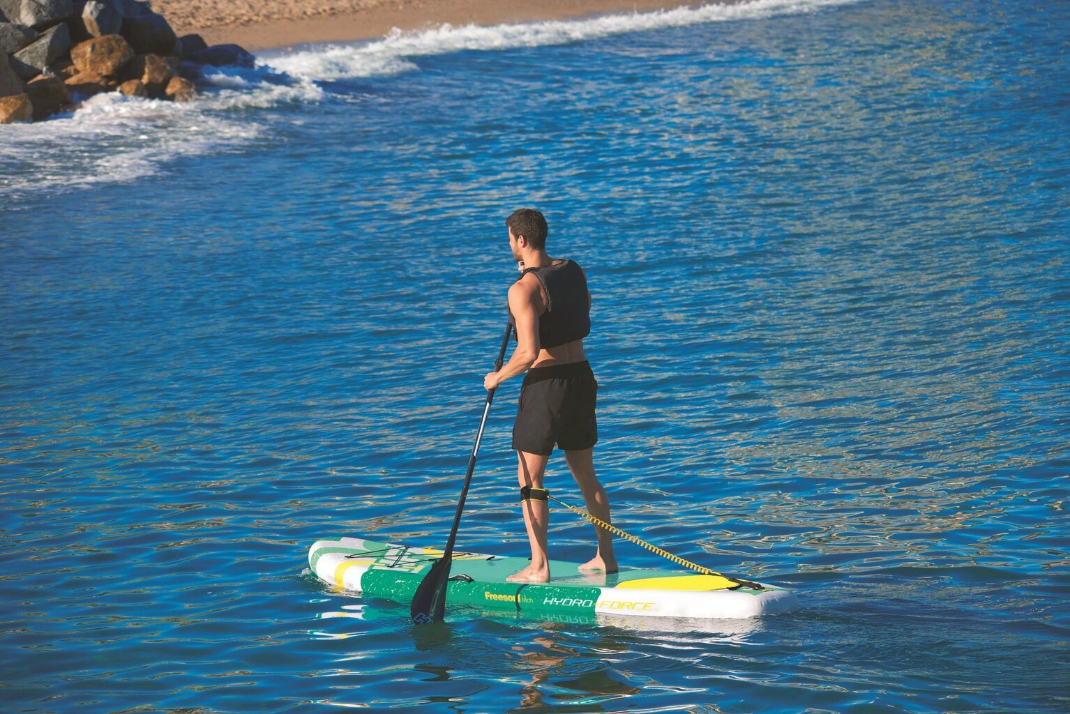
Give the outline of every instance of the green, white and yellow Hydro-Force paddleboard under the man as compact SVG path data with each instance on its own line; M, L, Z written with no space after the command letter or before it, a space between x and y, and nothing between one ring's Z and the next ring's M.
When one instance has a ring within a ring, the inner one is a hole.
M308 565L321 580L341 590L409 604L441 556L442 550L435 548L338 538L315 543L308 549ZM718 575L639 569L611 575L581 573L578 563L559 560L550 561L549 583L505 581L526 565L525 558L455 552L447 607L463 604L532 616L662 618L750 618L798 607L791 591L765 584L754 589Z

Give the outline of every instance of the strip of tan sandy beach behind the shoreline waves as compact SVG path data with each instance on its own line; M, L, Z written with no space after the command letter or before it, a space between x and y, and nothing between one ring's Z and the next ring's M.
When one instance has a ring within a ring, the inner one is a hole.
M679 7L673 0L154 0L179 34L268 49L380 37L443 24L499 25Z

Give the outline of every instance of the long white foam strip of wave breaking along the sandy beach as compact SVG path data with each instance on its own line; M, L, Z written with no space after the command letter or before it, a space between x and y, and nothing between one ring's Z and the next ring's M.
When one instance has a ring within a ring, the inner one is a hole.
M445 55L461 50L562 45L626 32L811 12L823 6L853 2L857 0L752 0L737 4L677 7L579 20L549 20L491 27L443 25L414 33L395 29L382 40L372 43L333 45L271 56L265 58L265 62L280 72L314 80L376 77L417 68L407 59L412 57Z

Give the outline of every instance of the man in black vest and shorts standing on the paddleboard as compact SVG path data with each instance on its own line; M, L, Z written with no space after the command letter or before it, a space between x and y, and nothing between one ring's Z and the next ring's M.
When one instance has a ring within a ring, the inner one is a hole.
M517 348L498 372L484 377L494 389L526 372L520 388L513 448L519 461L521 510L531 564L506 579L546 583L550 579L546 529L550 517L542 487L547 461L556 445L565 452L587 511L610 522L609 498L595 476L592 451L598 440L595 394L598 384L583 353L583 338L591 332L591 294L587 279L575 262L553 259L546 252L546 218L533 208L521 208L505 220L513 258L523 271L509 288L509 313L516 323ZM595 527L598 549L580 565L584 572L615 573L611 534Z

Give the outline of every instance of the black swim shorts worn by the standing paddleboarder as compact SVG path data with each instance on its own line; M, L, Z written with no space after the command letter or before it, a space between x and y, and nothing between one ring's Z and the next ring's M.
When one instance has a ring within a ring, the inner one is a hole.
M595 398L598 383L586 361L528 370L520 387L513 448L548 456L590 449L598 440Z

